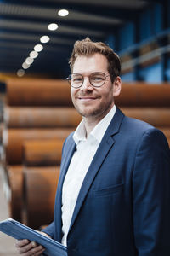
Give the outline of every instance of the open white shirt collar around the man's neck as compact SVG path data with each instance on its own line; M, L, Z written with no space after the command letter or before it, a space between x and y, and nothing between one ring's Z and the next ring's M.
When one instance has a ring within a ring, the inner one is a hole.
M111 108L110 112L107 113L105 117L99 121L99 123L94 127L93 131L90 132L88 137L94 137L94 139L98 140L100 143L115 113L116 113L116 105L114 105L113 108ZM73 135L73 139L76 144L78 144L80 141L87 140L86 129L85 129L83 119L81 123L77 126L77 130Z

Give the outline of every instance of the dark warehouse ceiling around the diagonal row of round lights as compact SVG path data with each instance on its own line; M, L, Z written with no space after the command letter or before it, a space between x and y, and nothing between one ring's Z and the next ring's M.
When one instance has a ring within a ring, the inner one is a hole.
M0 0L0 73L16 75L21 69L20 76L25 73L25 76L65 78L77 39L88 36L106 42L123 24L137 19L139 12L154 2L161 1ZM59 16L62 9L68 10L68 15ZM58 28L48 30L50 24ZM41 43L42 36L48 36L43 39L49 41ZM42 44L43 49L38 49L37 57L31 57L33 63L28 64L26 59L37 44Z

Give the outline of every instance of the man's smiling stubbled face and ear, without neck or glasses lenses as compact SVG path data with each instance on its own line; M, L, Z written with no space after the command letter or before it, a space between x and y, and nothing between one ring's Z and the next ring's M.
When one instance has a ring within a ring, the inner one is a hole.
M119 95L121 90L119 77L112 83L111 77L108 76L105 84L98 88L94 87L90 84L88 76L96 72L109 75L107 59L104 55L94 54L89 57L77 57L73 73L82 74L84 82L80 88L71 87L71 99L77 112L82 117L92 120L102 119L111 110L114 105L114 96Z

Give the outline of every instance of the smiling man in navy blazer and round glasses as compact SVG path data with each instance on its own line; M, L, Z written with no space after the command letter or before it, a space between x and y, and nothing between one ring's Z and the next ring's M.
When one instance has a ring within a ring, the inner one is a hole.
M67 246L68 256L169 256L166 138L116 108L121 65L106 44L77 41L70 64L82 122L65 140L55 219L42 234ZM16 247L24 256L43 252L25 240Z

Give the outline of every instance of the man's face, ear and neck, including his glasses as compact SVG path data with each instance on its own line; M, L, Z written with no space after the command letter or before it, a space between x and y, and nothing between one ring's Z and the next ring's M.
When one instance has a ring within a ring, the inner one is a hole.
M120 77L117 76L114 82L111 78L104 55L80 55L74 62L73 74L69 77L71 99L87 123L88 133L109 113L114 105L114 96L120 94Z

